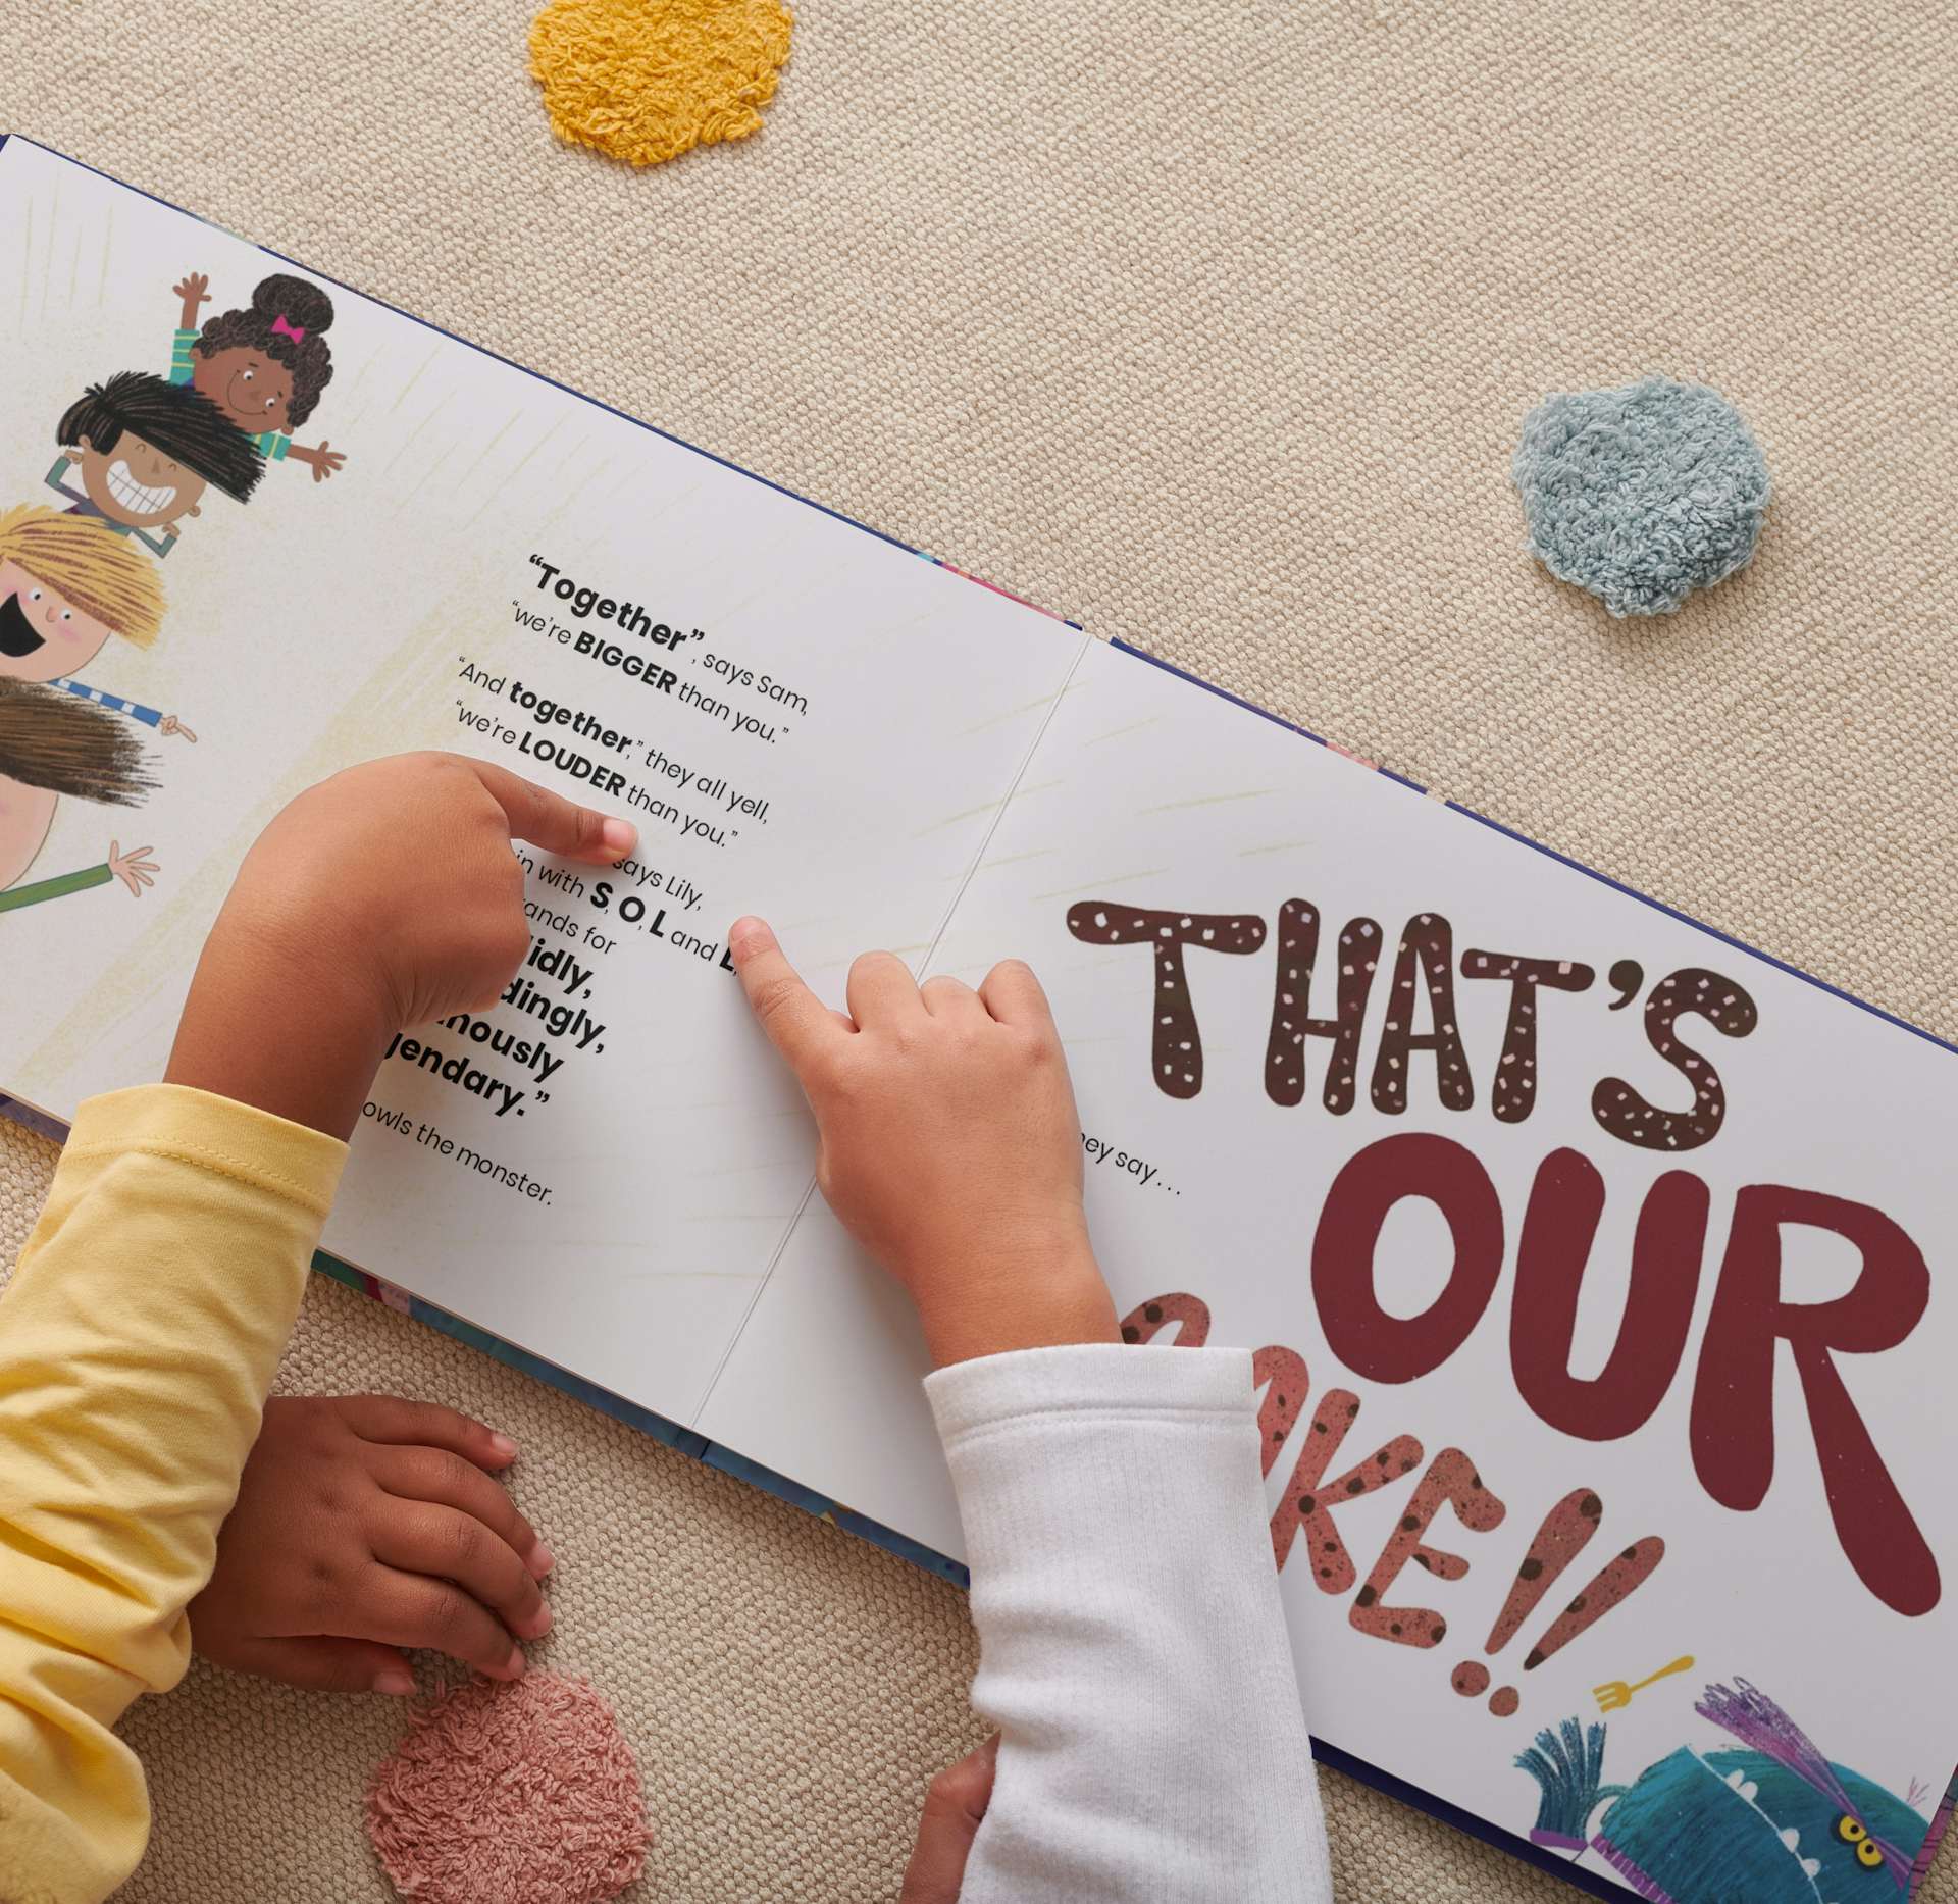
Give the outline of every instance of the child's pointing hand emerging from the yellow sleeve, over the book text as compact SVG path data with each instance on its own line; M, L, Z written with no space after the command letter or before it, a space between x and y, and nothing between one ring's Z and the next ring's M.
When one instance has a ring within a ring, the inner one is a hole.
M164 1075L347 1136L388 1040L495 1003L529 952L511 840L605 866L636 836L460 754L335 774L245 856Z

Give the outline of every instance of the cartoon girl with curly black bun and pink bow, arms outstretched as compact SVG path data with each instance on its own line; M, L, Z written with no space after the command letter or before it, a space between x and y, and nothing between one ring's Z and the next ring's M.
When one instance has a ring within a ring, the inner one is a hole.
M170 290L182 300L170 345L170 382L190 384L217 404L255 443L266 462L303 462L313 482L325 482L347 462L343 451L294 443L292 433L313 413L333 382L327 327L333 300L305 278L274 272L251 294L251 306L219 311L198 327L210 302L210 278L188 272Z

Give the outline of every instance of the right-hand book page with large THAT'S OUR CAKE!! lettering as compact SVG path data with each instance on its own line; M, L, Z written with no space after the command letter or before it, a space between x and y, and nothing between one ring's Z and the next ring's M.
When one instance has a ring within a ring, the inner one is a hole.
M1132 1340L1259 1352L1314 1736L1592 1888L1911 1888L1954 1054L1106 646L932 968L1006 956ZM697 1426L957 1553L922 1367L813 1203Z

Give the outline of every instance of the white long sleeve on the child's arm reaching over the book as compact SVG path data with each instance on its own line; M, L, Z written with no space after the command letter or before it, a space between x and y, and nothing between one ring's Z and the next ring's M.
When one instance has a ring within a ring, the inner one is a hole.
M1081 1346L926 1389L1002 1732L961 1904L1329 1904L1251 1357Z

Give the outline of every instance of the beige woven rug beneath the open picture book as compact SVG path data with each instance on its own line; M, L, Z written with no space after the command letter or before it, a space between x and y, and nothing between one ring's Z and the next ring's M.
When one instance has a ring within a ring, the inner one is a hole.
M552 145L527 16L14 0L0 127L1958 1034L1936 6L807 0L768 129L638 176ZM1645 370L1723 388L1778 500L1750 572L1627 627L1523 558L1506 466L1539 394ZM51 1160L0 1130L0 1261ZM642 1898L895 1894L975 1737L957 1595L327 1283L282 1383L529 1450L546 1657L646 1773ZM125 1894L386 1896L394 1720L200 1669L129 1722ZM1351 1904L1570 1896L1326 1790Z

